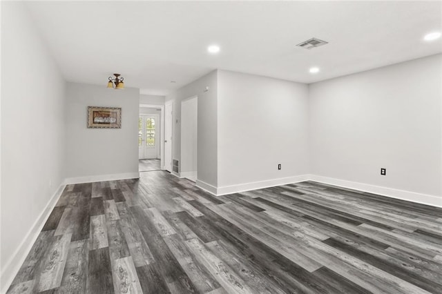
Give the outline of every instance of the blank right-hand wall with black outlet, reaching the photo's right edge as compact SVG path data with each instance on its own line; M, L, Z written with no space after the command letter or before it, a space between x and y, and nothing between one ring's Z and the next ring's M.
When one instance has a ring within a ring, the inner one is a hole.
M311 172L440 196L441 72L434 55L309 85Z

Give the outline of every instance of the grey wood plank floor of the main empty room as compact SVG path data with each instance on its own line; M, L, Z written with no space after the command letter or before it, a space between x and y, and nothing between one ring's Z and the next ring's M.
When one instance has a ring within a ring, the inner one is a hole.
M442 293L442 209L315 182L68 185L8 293Z

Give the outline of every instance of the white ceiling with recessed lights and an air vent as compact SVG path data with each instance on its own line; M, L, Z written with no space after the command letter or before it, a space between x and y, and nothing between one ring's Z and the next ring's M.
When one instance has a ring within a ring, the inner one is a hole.
M312 83L442 52L441 1L32 1L68 81L165 95L220 68ZM307 50L301 41L329 44ZM207 46L221 51L209 55ZM311 75L308 69L318 66ZM176 81L176 83L171 83Z

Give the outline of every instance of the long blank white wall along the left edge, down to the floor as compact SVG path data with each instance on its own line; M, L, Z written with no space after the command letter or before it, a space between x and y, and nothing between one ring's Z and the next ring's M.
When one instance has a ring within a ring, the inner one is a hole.
M1 3L1 285L64 179L65 81L21 2ZM6 289L0 289L5 293Z

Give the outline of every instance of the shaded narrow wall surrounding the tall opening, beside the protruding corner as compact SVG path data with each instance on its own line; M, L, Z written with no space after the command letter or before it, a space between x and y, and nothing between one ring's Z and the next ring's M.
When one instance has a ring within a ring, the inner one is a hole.
M191 84L184 86L170 95L166 101L173 101L173 159L179 159L181 153L181 101L198 96L198 181L197 183L217 186L218 151L217 151L217 97L218 70L213 70ZM204 88L209 90L204 92ZM207 188L207 187L206 187Z

